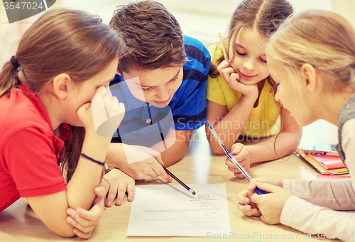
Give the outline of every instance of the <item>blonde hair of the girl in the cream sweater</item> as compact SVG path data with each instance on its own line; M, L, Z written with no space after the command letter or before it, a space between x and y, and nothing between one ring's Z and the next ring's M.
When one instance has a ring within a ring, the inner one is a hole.
M327 75L327 90L355 90L355 31L337 13L309 10L288 18L272 35L266 53L293 80L309 63Z

